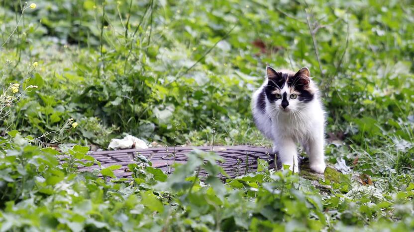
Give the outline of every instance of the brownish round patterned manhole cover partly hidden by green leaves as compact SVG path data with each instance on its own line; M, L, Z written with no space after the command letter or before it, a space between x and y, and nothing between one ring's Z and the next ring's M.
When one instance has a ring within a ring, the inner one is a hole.
M103 167L111 165L122 165L122 168L114 170L114 174L118 178L131 177L128 171L128 164L134 163L135 154L147 157L152 167L159 168L166 173L172 172L171 165L176 163L185 163L187 161L186 154L193 150L194 147L175 147L175 154L173 155L174 147L160 147L150 149L128 149L117 151L100 151L94 152L90 155L100 161ZM200 150L210 151L211 147L195 147ZM254 172L257 170L257 159L270 161L271 166L274 167L274 155L270 149L251 147L251 146L232 146L232 147L214 147L213 150L220 155L225 162L220 164L224 171L231 177L245 174L247 172ZM91 171L98 166L91 166L82 168L80 171ZM203 172L202 172L203 174Z

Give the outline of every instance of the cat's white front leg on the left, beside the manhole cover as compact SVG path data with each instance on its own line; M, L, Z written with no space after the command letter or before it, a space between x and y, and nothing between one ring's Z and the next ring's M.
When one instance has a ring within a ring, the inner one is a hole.
M289 165L289 169L294 173L299 173L298 152L293 139L281 138L274 142L273 152L279 153L278 163Z

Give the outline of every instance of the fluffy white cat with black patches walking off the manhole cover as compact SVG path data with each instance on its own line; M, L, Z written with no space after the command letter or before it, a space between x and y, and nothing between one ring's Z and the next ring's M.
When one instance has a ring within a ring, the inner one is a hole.
M296 143L300 143L309 155L310 169L323 174L325 112L309 69L278 72L267 66L266 76L252 96L256 126L273 141L278 163L299 173Z

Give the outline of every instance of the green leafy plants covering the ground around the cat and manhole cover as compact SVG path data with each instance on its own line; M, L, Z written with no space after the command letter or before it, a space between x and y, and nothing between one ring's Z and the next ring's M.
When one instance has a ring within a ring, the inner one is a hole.
M414 229L411 1L34 3L0 6L1 231ZM143 158L133 181L77 172L124 133L268 146L249 107L266 64L310 68L343 174L315 185L260 162L222 183L200 151L170 176Z

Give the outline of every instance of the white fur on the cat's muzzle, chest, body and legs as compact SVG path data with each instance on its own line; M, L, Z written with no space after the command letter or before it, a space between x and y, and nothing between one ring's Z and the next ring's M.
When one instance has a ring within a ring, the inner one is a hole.
M324 161L325 113L315 84L310 80L310 86L315 90L315 94L309 103L300 102L299 97L290 99L289 88L285 85L281 94L287 93L289 106L286 109L288 111L283 111L282 99L272 104L266 98L266 110L262 114L260 109L257 109L257 99L267 82L266 78L252 97L252 111L256 126L273 141L273 152L279 153L278 158L281 163L289 165L290 170L295 173L299 172L296 143L300 143L309 155L310 169L316 173L323 173L326 167Z

